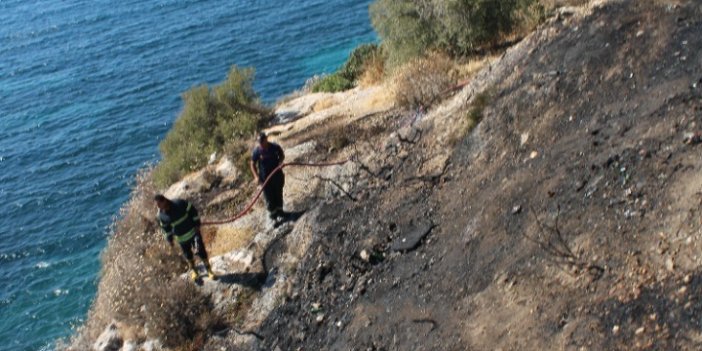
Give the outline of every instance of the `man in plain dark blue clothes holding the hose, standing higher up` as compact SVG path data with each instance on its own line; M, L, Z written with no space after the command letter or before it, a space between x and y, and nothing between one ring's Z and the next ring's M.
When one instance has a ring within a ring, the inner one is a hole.
M249 162L254 179L258 184L263 184L283 161L285 161L283 148L276 143L269 142L266 133L261 132L258 135L258 146L254 148L251 162ZM263 197L266 199L268 214L272 220L285 216L283 211L284 185L285 175L282 170L278 170L263 188Z

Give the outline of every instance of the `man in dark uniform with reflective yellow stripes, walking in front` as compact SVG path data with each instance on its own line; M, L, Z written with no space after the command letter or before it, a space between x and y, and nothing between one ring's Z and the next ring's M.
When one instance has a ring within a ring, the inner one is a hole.
M173 246L173 239L180 245L188 267L191 269L190 277L193 281L197 281L199 278L195 268L193 250L197 251L197 255L205 264L207 276L212 280L217 279L210 267L205 243L202 242L200 216L197 214L195 206L181 199L170 200L161 194L154 196L154 201L158 206L158 222L163 229L164 236L171 246Z

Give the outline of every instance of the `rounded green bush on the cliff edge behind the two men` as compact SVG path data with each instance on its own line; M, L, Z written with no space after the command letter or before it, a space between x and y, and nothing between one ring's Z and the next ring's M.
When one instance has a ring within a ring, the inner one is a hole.
M168 186L204 166L210 154L263 126L268 111L259 103L253 78L252 68L233 66L224 82L183 94L183 111L159 145L162 160L154 170L157 186Z

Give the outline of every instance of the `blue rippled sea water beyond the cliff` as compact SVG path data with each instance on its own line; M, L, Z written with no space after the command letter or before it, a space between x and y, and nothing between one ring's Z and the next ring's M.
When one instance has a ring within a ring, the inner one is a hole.
M0 0L0 350L84 320L106 227L180 93L255 66L264 101L376 40L371 0Z

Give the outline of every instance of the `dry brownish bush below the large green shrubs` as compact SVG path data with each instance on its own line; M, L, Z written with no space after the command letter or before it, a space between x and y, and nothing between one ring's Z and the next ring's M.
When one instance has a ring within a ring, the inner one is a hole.
M455 83L453 66L448 57L436 53L405 64L395 78L395 103L411 109L429 107Z

